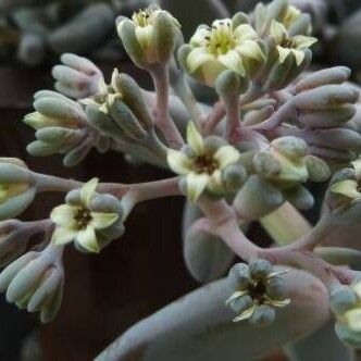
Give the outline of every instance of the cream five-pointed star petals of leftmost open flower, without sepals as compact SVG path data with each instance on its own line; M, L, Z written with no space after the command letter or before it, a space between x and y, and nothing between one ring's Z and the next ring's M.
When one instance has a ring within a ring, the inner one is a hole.
M74 240L90 252L100 251L96 232L114 224L120 215L91 211L90 202L96 195L97 186L97 178L89 180L80 188L79 204L61 204L52 210L50 217L57 225L52 241L55 245L65 245Z

